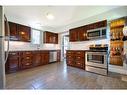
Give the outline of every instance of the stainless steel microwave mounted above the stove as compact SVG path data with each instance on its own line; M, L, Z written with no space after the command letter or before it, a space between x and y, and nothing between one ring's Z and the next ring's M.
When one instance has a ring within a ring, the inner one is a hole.
M97 28L87 31L87 39L100 39L100 38L106 38L106 27L103 28Z

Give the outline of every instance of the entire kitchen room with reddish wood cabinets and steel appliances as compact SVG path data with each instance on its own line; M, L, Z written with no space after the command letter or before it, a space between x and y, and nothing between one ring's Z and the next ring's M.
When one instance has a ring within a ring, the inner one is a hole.
M6 72L5 89L127 88L126 6L2 8L9 37L4 41L5 70L0 71ZM52 13L60 16L58 20ZM69 42L64 50L65 36Z

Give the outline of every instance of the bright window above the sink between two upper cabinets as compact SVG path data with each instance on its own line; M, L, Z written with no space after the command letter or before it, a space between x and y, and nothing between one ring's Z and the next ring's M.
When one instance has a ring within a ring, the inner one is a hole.
M41 31L40 30L37 30L37 29L32 29L32 36L31 36L31 38L32 38L32 44L41 44L41 42L40 42L40 37L41 36Z

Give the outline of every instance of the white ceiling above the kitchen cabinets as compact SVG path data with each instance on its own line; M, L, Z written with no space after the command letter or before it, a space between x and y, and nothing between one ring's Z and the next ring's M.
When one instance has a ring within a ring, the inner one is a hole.
M5 6L4 11L10 21L35 28L57 28L116 7L118 6ZM55 16L54 20L46 18L48 12Z

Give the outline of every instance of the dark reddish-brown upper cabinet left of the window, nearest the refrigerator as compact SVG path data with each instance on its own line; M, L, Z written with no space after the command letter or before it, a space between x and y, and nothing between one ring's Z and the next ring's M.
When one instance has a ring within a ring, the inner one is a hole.
M14 22L9 22L10 40L30 42L31 28ZM5 26L5 35L7 35L7 27Z

